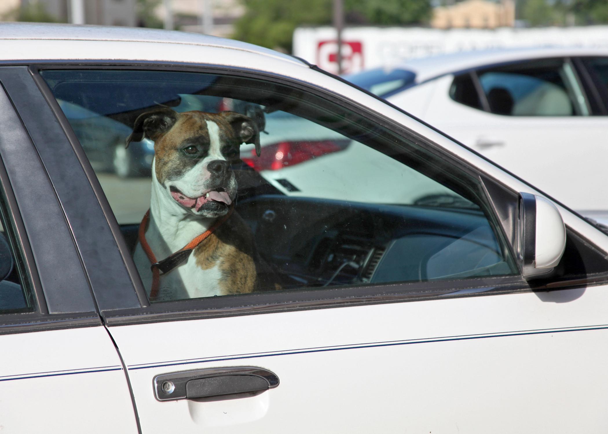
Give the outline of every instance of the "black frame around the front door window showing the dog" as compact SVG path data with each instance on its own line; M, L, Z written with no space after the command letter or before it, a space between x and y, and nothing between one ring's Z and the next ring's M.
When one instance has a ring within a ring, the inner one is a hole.
M109 249L108 246L113 244L116 253L120 252L120 255L122 255L122 257L119 258L117 258L116 255L111 258L114 267L117 267L117 269L123 267L123 269L126 270L120 276L120 283L112 289L112 291L114 291L112 294L116 294L116 291L125 292L129 290L131 291L131 294L134 294L134 297L128 297L128 300L125 299L126 301L120 297L109 300L110 297L108 297L107 292L105 292L108 290L104 284L94 284L94 279L89 276L92 292L95 294L103 320L108 326L454 297L454 295L447 294L454 292L459 288L470 288L471 286L494 288L492 290L494 292L492 293L531 291L533 288L539 288L538 284L531 285L523 280L520 275L514 275L510 277L500 277L499 285L497 285L497 278L475 278L472 280L460 281L426 281L391 285L370 284L368 286L340 288L338 292L336 292L336 289L315 289L314 297L311 297L310 290L296 289L288 292L267 292L239 296L229 295L225 297L180 300L151 305L147 300L143 285L139 279L133 260L131 260L131 257L128 254L128 249L126 248L122 235L120 235L120 227L111 212L111 208L97 181L91 164L89 164L86 159L74 131L72 131L69 122L63 115L63 112L59 108L50 89L46 86L46 83L44 83L41 76L38 75L38 71L43 69L153 69L156 71L188 71L238 75L240 77L262 78L263 80L288 84L289 86L304 89L312 94L320 95L333 102L346 105L354 112L367 117L368 119L373 119L374 122L377 122L382 126L397 131L399 134L409 137L417 143L424 143L424 146L430 152L440 155L443 159L449 160L451 164L456 165L461 168L461 170L471 173L475 177L479 177L486 189L489 202L494 207L494 215L497 216L497 219L500 222L500 224L497 224L497 229L503 230L503 235L509 241L508 246L510 249L513 249L512 246L515 233L514 213L516 207L516 192L507 188L502 182L494 179L490 174L483 173L465 160L447 152L437 143L422 137L420 134L416 133L416 131L406 128L381 114L371 112L370 109L343 95L335 94L327 89L318 88L310 83L298 80L297 78L285 77L278 74L268 74L247 68L218 67L207 64L167 64L128 61L79 61L78 63L71 61L32 62L29 64L28 69L32 78L32 81L29 83L31 88L30 91L35 92L34 87L38 89L40 95L44 97L45 102L54 113L54 116L57 117L58 125L63 128L69 144L74 150L75 155L77 155L78 162L83 167L83 173L86 176L86 180L91 185L92 191L85 191L87 188L81 189L81 195L88 195L86 198L86 201L89 201L87 202L89 204L88 207L95 208L94 215L88 216L89 224L90 222L94 222L95 225L105 226L103 231L97 231L95 234L88 234L87 236L94 237L94 245L106 246L105 248ZM30 122L34 122L34 120L30 120ZM63 162L57 162L58 166L62 163ZM58 172L55 172L55 175L52 175L52 177L57 176L57 173ZM83 182L85 182L84 179ZM58 191L60 199L63 198L64 195L66 195L66 190ZM508 200L505 200L505 198L508 198ZM72 216L67 216L67 219L70 226L73 228L75 239L80 239L80 236L83 233L82 231L85 229L82 227L82 223L78 222L77 219ZM78 225L80 225L80 227ZM78 229L78 231L76 229ZM118 246L117 249L116 246ZM81 255L81 257L86 270L94 269L95 264L98 264L95 258L86 255ZM608 278L608 275L590 277L585 280L585 284L593 282L599 284L606 281L606 278ZM561 282L552 284L555 288L567 288L571 286L572 283ZM575 283L575 286L580 284L584 283L579 280ZM469 297L473 295L474 294L460 294L457 296ZM135 298L137 302L133 302Z

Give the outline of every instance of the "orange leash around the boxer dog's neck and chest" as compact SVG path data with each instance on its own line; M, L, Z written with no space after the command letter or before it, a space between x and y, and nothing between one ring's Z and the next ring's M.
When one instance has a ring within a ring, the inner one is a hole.
M142 245L143 251L146 253L148 260L152 264L150 269L152 270L152 288L150 289L150 300L156 299L158 297L158 286L159 281L161 280L161 271L162 274L166 274L177 267L179 264L182 264L192 253L192 250L196 248L202 241L211 235L218 227L225 222L230 215L232 214L232 210L234 208L230 207L228 213L223 216L223 218L219 219L215 222L215 224L207 229L205 232L201 233L201 235L196 236L190 243L186 244L184 247L179 249L177 252L172 253L167 258L162 261L157 261L154 252L150 248L150 244L146 240L146 229L148 227L148 221L150 221L150 210L148 210L143 216L142 222L139 224L139 244Z

